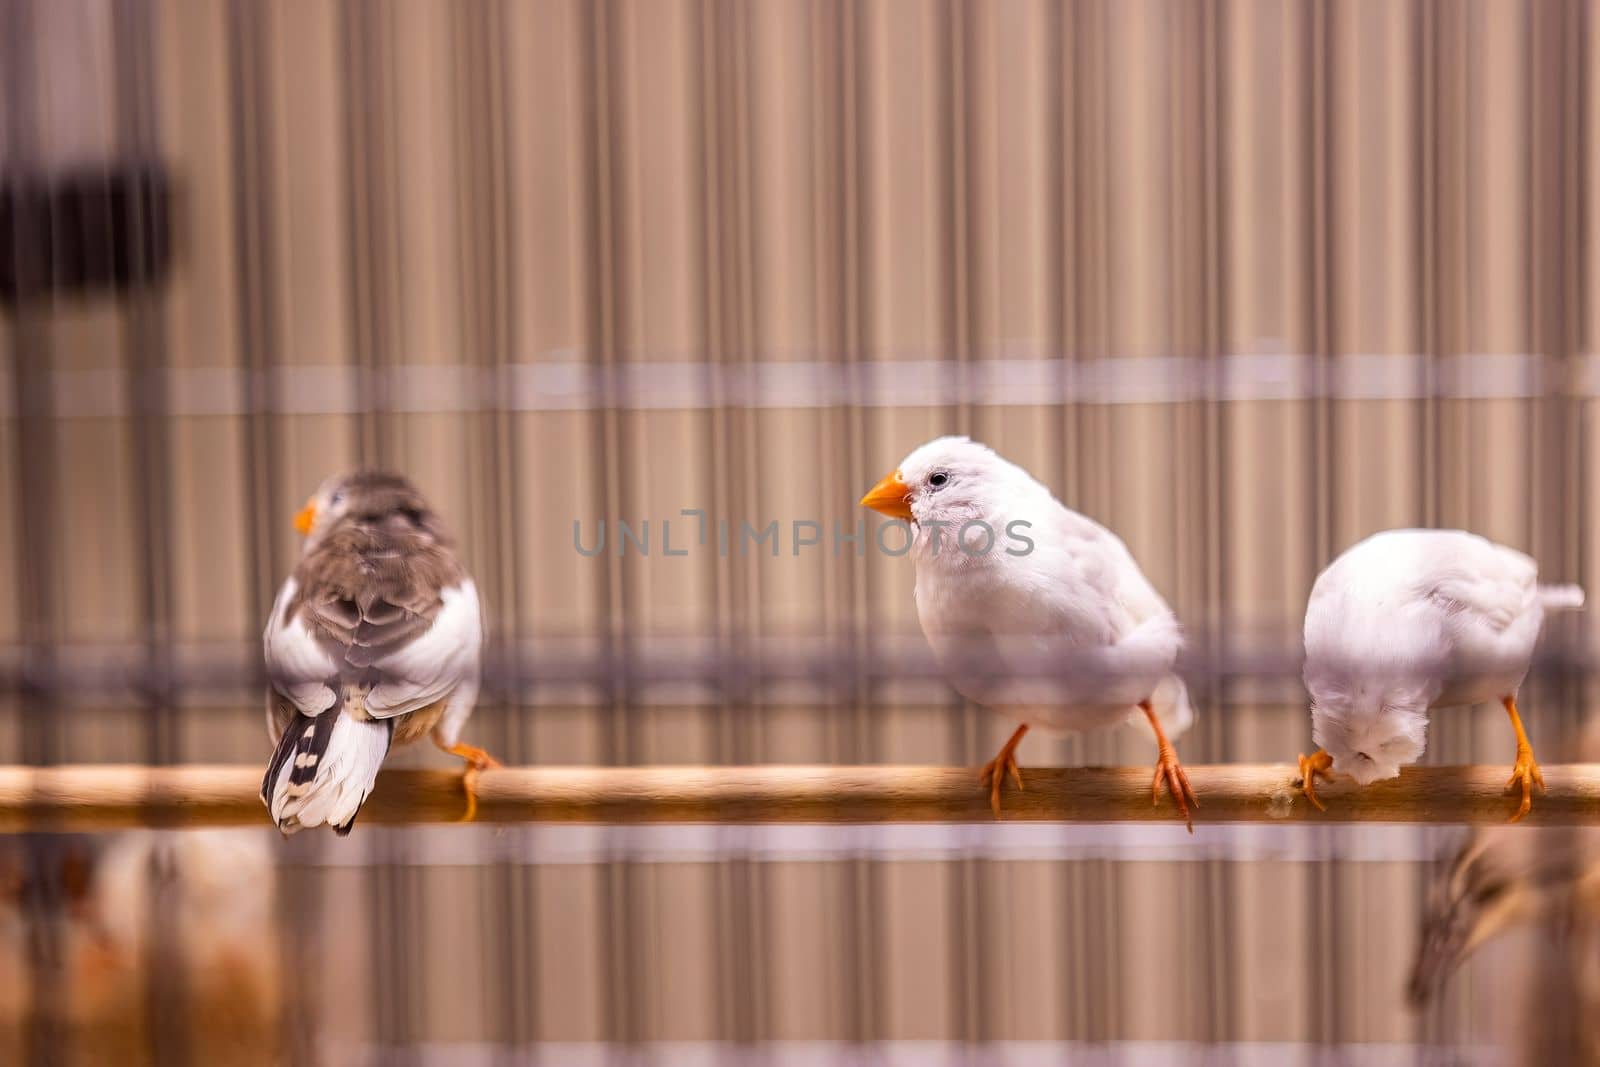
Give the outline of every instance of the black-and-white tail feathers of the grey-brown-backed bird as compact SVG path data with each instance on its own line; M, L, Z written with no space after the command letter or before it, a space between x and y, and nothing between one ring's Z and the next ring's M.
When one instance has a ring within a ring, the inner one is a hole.
M296 715L261 784L261 800L283 833L326 822L350 832L389 753L394 720L360 720L339 710Z

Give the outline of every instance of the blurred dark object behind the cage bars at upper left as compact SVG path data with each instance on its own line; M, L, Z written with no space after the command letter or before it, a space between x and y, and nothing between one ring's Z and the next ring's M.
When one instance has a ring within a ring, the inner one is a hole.
M0 176L0 302L154 285L171 264L171 202L150 163Z

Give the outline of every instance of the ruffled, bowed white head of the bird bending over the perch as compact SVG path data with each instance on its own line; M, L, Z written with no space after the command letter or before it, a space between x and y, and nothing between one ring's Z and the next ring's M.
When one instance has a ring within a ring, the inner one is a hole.
M1333 757L1333 771L1362 785L1400 774L1427 747L1427 701L1387 686L1317 691L1312 741Z

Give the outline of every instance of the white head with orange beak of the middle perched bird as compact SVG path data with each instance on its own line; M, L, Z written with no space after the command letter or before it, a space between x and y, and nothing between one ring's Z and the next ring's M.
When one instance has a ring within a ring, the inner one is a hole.
M1048 491L987 445L965 437L938 437L914 450L901 466L861 498L862 507L918 525L946 523L950 537L968 522L1000 530L1018 504Z

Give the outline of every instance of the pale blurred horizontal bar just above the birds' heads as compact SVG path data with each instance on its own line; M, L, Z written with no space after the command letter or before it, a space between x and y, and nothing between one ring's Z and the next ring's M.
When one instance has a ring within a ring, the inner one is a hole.
M917 408L971 403L1165 405L1200 400L1530 400L1594 397L1595 355L1571 365L1528 352L1347 352L1328 360L1302 352L1221 357L1123 355L1072 360L1043 341L1008 341L1008 355L973 362L890 358L638 360L602 368L578 350L538 354L491 371L474 363L413 363L382 370L355 363L280 365L259 378L238 366L160 368L142 379L125 370L56 370L48 405L14 395L0 368L0 414L13 405L58 418L413 414L474 411L701 411L714 408ZM1019 354L1019 355L1010 355ZM459 358L459 355L456 357ZM250 386L250 389L246 389ZM259 408L246 397L258 397Z

